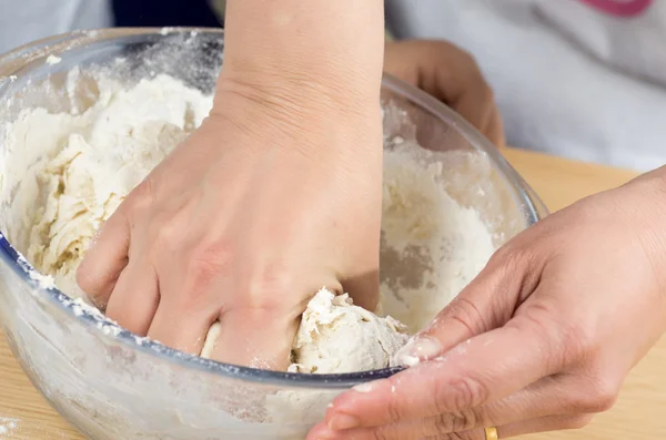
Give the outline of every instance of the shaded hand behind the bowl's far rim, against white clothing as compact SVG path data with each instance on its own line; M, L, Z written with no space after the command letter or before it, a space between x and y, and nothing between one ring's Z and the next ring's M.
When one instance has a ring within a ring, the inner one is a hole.
M384 71L442 100L495 145L504 145L493 91L467 52L445 41L387 43Z

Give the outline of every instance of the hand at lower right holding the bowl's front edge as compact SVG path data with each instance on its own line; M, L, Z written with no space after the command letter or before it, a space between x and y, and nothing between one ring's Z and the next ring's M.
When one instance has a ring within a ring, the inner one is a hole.
M309 439L484 440L578 428L615 402L666 326L666 168L565 208L501 248Z

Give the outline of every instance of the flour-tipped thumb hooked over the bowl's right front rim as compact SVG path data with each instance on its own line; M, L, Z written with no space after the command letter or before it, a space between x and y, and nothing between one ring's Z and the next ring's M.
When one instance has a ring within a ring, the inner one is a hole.
M507 247L500 249L428 327L410 339L394 362L413 367L504 326L538 284L532 266L526 254Z

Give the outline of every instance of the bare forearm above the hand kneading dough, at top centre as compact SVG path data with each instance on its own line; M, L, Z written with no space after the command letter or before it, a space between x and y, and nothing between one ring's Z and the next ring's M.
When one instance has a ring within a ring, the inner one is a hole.
M383 19L382 0L229 0L221 80L375 104Z

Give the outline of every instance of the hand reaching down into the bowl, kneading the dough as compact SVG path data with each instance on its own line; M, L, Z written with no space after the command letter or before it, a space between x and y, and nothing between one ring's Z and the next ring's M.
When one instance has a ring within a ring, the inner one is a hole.
M213 359L284 369L322 286L376 306L379 88L229 76L210 117L104 224L78 282L138 335L199 354L219 321Z

